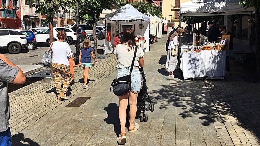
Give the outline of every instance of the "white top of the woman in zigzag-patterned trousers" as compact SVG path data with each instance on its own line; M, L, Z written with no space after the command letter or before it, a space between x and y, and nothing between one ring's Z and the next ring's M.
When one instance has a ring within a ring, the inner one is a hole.
M69 44L66 42L55 41L51 48L53 57L52 63L69 65L68 57L73 55Z

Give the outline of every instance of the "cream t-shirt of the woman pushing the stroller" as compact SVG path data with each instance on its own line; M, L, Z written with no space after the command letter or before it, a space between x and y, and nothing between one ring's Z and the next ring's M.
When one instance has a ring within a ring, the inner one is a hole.
M134 66L139 66L139 58L144 56L144 51L142 48L137 47L137 53L134 60ZM130 49L130 52L128 52L128 44L118 44L116 45L116 50L114 51L114 54L116 55L118 59L118 63L116 65L116 68L127 68L131 67L133 57L134 57L134 49Z

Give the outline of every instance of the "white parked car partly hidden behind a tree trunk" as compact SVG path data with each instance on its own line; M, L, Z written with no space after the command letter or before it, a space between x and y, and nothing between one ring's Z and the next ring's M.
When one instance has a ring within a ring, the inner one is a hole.
M38 45L50 45L50 30L48 27L35 27L29 30L35 34ZM65 42L67 42L69 45L71 45L73 42L76 42L76 32L74 32L71 28L68 27L53 27L54 40L58 40L57 34L60 30L66 32L67 34Z

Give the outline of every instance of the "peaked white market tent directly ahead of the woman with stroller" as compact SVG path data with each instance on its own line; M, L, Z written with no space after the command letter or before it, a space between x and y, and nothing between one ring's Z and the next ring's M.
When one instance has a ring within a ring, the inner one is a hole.
M134 29L136 35L142 35L142 37L144 37L144 40L146 41L146 46L143 46L143 43L141 43L141 47L144 48L145 52L150 51L149 16L142 14L130 4L126 4L122 8L117 9L115 12L107 14L105 18L106 33L110 33L111 35L110 41L107 41L107 37L105 38L105 54L113 53L114 37L117 33L122 32L123 29L127 27L131 27L132 29ZM141 27L142 25L143 28ZM139 27L141 27L142 29L140 29Z

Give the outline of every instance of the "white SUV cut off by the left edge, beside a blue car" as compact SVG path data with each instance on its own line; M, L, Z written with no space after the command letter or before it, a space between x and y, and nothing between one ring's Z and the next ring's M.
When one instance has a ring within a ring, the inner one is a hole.
M0 29L0 50L19 53L27 45L26 36L16 29Z

